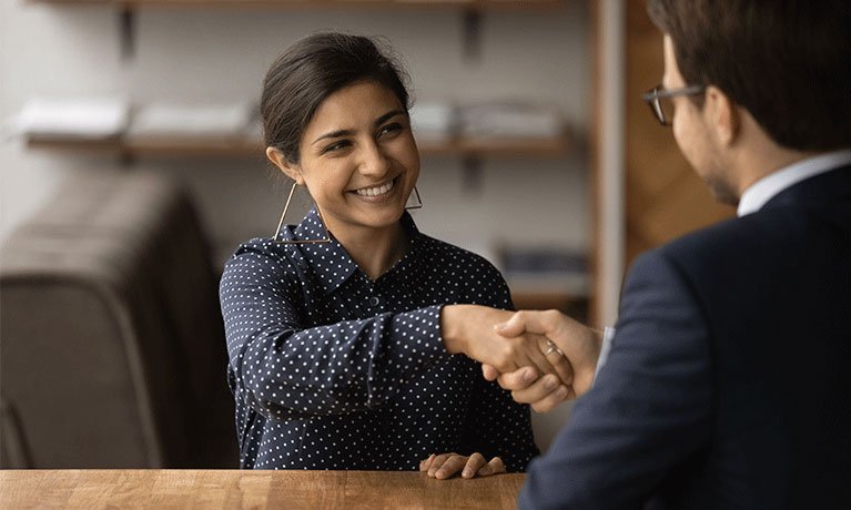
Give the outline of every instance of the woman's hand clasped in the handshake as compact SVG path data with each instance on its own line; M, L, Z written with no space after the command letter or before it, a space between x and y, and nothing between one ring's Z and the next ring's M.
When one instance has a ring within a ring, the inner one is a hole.
M508 322L513 312L478 305L447 305L440 310L440 336L447 351L463 353L499 374L534 366L540 375L554 374L561 384L571 385L570 361L550 348L547 337L533 332L504 336L495 330Z

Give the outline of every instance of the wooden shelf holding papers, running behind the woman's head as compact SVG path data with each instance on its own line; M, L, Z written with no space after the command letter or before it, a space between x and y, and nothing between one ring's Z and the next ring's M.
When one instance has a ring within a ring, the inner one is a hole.
M426 156L479 157L518 155L559 157L570 152L570 136L549 139L452 139L447 141L418 141L419 152ZM197 139L107 139L73 140L61 137L30 137L27 146L33 150L114 152L124 156L259 156L264 157L263 145L247 137Z

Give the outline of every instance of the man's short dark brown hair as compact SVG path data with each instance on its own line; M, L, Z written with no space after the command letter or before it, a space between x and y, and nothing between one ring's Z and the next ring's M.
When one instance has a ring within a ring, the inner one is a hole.
M851 146L851 2L649 0L687 84L715 85L780 145Z

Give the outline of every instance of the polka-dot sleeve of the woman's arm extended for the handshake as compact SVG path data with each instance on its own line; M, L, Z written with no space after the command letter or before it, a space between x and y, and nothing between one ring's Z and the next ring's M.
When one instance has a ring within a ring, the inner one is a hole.
M267 418L374 409L449 356L439 306L305 327L297 269L259 249L229 261L220 298L236 390Z

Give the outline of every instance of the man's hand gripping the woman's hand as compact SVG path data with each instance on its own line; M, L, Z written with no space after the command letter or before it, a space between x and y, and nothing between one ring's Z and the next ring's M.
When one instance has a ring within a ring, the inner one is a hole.
M558 347L569 360L574 374L571 384L558 385L554 378L538 377L533 367L514 371L500 371L498 367L483 365L486 379L497 379L499 386L511 391L521 404L546 412L569 398L577 398L590 389L602 346L602 333L591 329L557 310L516 313L507 323L497 326L499 335L513 337L539 334ZM548 358L551 359L551 356Z

